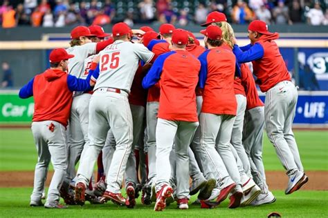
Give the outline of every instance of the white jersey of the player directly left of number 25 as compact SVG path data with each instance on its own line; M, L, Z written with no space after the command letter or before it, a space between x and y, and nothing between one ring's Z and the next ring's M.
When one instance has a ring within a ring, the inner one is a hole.
M69 59L70 75L78 78L81 78L84 75L84 59L95 54L96 45L97 43L86 43L82 46L73 46L66 49L67 53L74 55L72 59Z

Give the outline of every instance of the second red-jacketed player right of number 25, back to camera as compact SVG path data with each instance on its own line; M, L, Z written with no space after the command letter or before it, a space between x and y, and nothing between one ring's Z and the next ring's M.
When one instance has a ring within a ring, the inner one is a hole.
M199 119L201 147L206 152L203 165L213 166L219 175L222 190L217 201L223 201L229 192L233 192L229 208L237 208L243 196L242 183L229 143L237 112L233 90L235 56L226 46L222 46L222 31L219 27L208 26L201 33L205 35L204 41L209 48L199 56L199 87L204 88ZM219 153L215 147L218 147ZM229 175L235 182L231 181Z

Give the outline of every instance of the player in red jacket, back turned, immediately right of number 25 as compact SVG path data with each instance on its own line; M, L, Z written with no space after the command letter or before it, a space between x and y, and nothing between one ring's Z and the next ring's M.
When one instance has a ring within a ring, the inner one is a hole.
M188 209L189 164L188 147L198 126L196 96L199 60L185 51L188 32L177 29L172 34L172 52L162 54L143 79L143 87L160 80L161 95L156 125L156 204L155 211L165 208L172 195L169 185L170 152L176 149L176 197L180 209Z

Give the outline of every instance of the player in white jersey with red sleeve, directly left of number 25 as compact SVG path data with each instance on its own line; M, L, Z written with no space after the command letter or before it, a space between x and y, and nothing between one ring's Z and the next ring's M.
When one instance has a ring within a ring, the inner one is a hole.
M69 62L69 74L84 79L88 72L84 68L84 60L92 54L97 54L109 44L113 43L113 39L101 41L98 43L91 42L91 34L89 28L78 26L71 31L71 47L66 49L70 54L75 56ZM69 195L69 184L75 177L75 164L80 159L84 144L88 143L88 123L89 123L89 100L91 92L75 92L71 108L71 116L69 122L69 165L67 175L64 179L61 189L62 197L66 203L75 204L73 196ZM72 202L73 201L73 202Z

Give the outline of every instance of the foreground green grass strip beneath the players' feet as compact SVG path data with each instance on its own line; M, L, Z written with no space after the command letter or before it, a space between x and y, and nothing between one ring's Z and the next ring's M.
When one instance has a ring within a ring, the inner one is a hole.
M271 205L228 209L228 200L218 208L200 209L190 206L189 210L178 210L176 203L163 212L154 212L154 204L144 206L138 202L136 208L128 209L108 202L102 205L86 204L83 207L69 206L66 210L30 208L31 188L0 188L0 212L4 217L266 217L277 211L282 217L327 217L328 192L302 191L284 195L274 191L277 201ZM194 200L194 198L192 199Z

